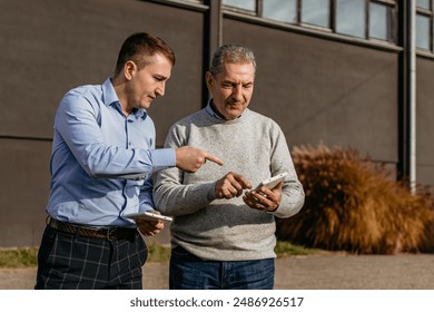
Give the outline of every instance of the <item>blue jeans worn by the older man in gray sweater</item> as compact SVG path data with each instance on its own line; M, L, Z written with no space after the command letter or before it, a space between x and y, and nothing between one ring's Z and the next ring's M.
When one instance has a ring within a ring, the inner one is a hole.
M274 259L204 261L183 247L171 251L170 290L273 290Z

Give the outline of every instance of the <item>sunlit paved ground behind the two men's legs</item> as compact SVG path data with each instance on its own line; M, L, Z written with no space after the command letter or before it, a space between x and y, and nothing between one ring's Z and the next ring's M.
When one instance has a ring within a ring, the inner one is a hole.
M0 270L0 290L31 290L36 269ZM144 266L144 289L165 290L167 263ZM276 289L434 290L434 254L290 256L276 261Z

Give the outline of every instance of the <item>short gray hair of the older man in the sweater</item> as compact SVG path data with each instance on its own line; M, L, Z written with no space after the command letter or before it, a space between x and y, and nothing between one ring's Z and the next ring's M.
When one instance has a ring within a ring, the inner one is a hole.
M223 65L230 64L249 64L251 62L256 70L256 60L254 52L240 45L225 45L218 48L213 56L211 67L209 71L213 76L221 72Z

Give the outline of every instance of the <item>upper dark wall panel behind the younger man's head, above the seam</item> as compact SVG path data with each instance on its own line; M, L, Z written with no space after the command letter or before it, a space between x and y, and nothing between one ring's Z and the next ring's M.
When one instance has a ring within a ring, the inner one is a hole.
M21 0L0 2L0 135L52 137L63 94L112 75L120 45L136 31L152 32L178 56L167 97L155 103L162 133L200 107L203 14L135 0Z

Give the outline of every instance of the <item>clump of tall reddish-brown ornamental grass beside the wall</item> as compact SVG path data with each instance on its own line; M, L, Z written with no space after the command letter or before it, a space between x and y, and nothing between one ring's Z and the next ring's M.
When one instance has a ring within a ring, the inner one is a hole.
M293 159L306 201L297 215L277 221L278 240L359 254L433 250L428 192L412 195L385 165L351 148L302 146Z

